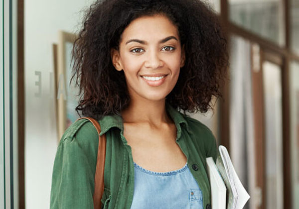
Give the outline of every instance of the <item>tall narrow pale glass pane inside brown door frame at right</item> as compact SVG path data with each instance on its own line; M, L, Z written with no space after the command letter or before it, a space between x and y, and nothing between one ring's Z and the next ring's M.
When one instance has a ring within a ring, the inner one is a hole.
M283 208L283 136L282 82L280 66L263 63L266 122L266 205L267 209Z

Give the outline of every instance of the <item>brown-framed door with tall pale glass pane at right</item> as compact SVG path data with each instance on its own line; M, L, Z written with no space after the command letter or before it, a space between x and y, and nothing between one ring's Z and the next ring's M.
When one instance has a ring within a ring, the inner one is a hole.
M252 50L257 209L284 208L283 61L258 45ZM285 153L286 154L286 153ZM257 190L257 191L258 191Z

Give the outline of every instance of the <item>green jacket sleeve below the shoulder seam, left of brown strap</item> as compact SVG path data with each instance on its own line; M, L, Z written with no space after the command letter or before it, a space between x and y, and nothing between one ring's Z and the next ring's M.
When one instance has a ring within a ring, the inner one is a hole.
M88 157L72 138L57 148L51 185L50 209L93 209L94 175Z

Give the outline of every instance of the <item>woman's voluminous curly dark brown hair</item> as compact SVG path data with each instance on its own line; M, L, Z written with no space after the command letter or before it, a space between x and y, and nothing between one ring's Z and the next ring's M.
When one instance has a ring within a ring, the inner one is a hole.
M120 115L130 104L124 72L115 70L110 50L119 49L131 21L154 14L166 15L177 27L186 56L166 102L184 113L206 112L212 97L222 96L220 84L229 66L227 39L209 5L200 0L97 0L86 10L72 51L72 79L77 76L81 95L78 114L98 119Z

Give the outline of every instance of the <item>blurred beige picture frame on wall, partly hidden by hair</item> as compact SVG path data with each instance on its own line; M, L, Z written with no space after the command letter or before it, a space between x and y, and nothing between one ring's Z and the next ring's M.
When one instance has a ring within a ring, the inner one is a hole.
M75 110L80 100L79 87L75 85L76 78L74 77L70 83L73 67L72 49L76 38L76 34L58 31L57 72L55 72L58 141L64 131L80 117Z

